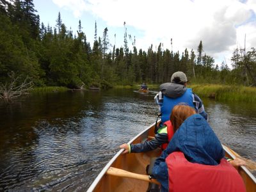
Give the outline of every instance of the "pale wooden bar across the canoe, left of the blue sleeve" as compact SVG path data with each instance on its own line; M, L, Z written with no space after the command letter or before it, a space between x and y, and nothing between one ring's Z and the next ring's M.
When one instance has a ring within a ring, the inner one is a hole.
M149 179L148 175L142 175L138 173L132 173L132 172L127 172L125 170L121 170L115 167L110 167L107 171L108 175L115 175L117 177L127 177L127 178L132 178L132 179L139 179L139 180L145 180L147 182L153 182L155 184L160 184L156 179Z

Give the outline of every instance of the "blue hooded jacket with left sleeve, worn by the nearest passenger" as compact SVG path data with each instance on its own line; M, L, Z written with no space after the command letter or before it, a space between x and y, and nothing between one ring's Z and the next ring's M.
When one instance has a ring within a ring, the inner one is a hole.
M168 167L165 159L175 151L183 152L191 163L207 165L217 165L225 156L220 141L205 118L199 114L189 116L154 163L153 174L161 183L161 191L168 191Z

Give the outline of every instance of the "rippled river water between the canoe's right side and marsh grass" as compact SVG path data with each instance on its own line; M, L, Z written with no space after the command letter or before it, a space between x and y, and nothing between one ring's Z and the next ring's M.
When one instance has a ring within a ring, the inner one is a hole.
M256 161L255 104L223 104L212 102L207 108L209 123L222 143L241 156Z

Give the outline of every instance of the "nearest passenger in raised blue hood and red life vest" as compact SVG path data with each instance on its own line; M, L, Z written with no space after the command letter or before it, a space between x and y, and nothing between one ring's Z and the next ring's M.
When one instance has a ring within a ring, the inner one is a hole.
M152 173L161 191L245 191L237 170L201 115L189 116L156 159ZM210 166L209 166L210 165Z

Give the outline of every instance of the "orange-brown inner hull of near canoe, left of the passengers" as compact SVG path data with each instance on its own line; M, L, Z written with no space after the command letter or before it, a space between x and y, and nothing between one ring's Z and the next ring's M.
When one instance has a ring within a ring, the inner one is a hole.
M148 139L148 136L154 136L154 125L152 124L146 132L143 132L132 143L141 143ZM146 153L132 153L120 155L111 164L112 167L121 168L133 173L140 173L146 175L146 166L150 163L150 158L157 157L161 154L161 150L157 149ZM146 191L148 188L148 182L129 179L123 177L115 177L111 175L104 175L100 182L97 184L93 191Z

